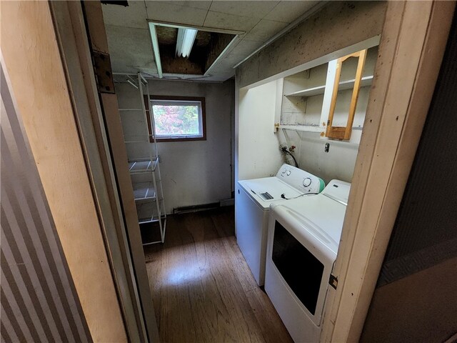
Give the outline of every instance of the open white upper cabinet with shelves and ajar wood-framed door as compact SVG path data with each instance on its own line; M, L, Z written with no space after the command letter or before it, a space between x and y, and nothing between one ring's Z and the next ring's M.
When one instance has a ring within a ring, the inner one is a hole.
M279 127L350 139L363 128L377 54L374 46L285 77Z

